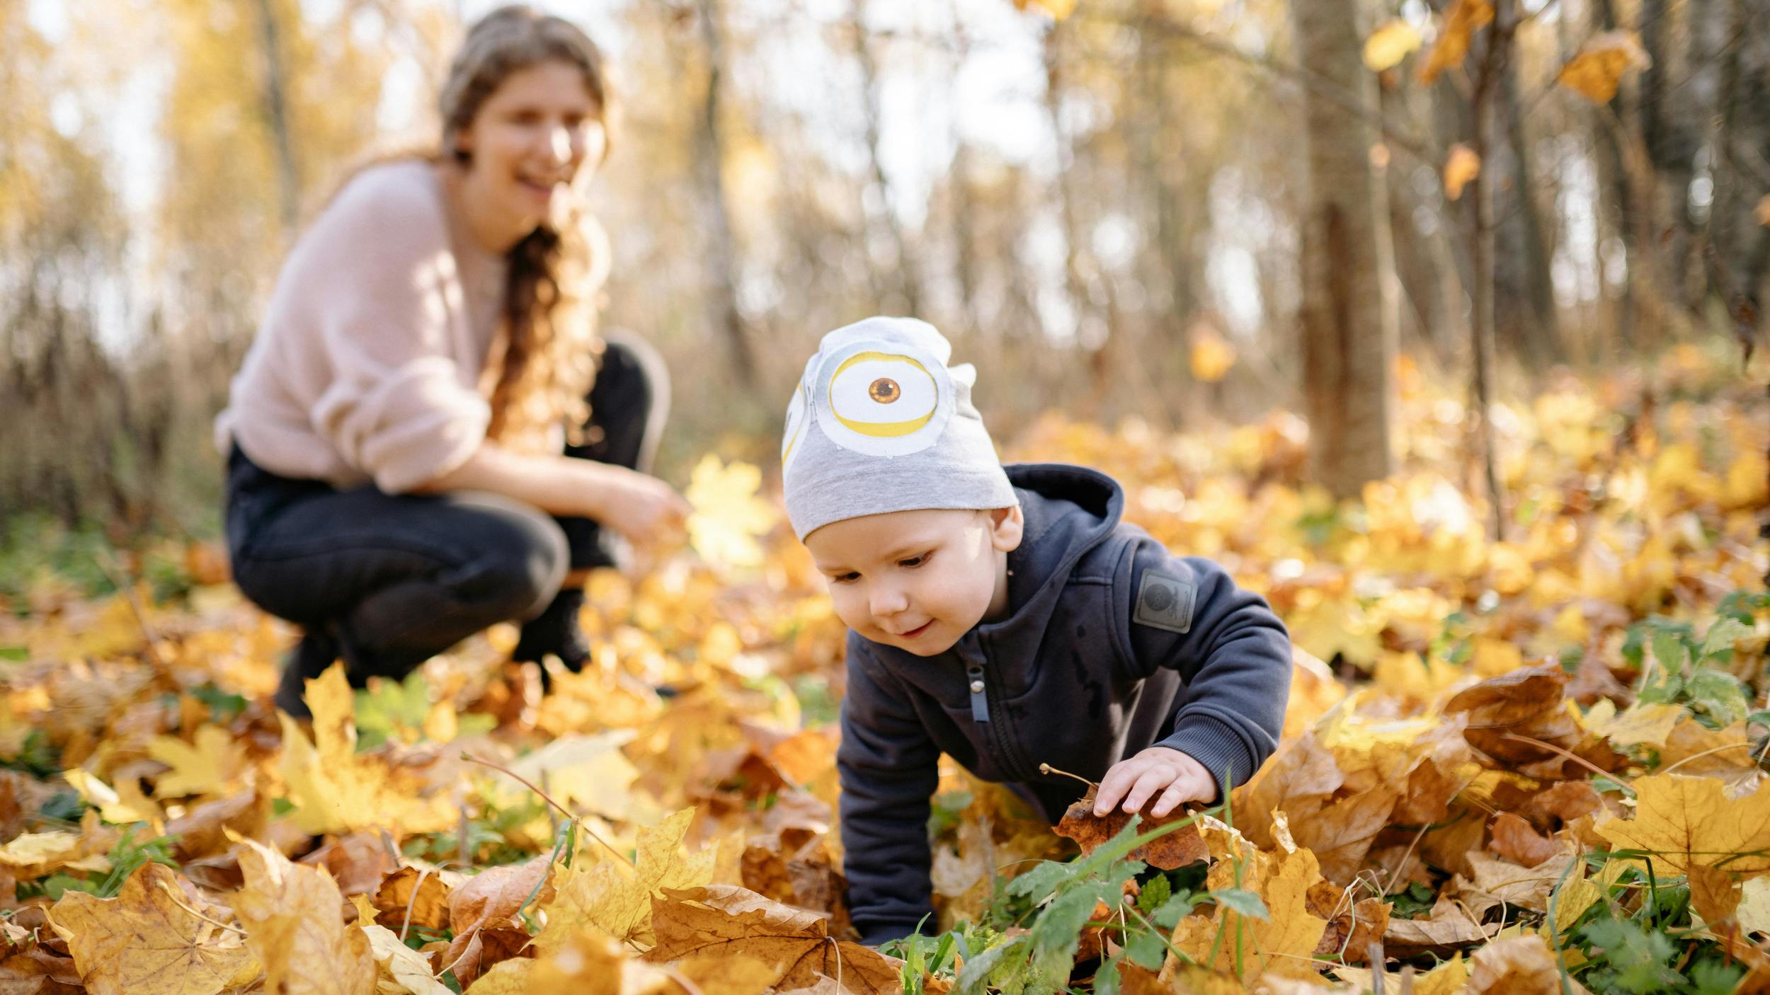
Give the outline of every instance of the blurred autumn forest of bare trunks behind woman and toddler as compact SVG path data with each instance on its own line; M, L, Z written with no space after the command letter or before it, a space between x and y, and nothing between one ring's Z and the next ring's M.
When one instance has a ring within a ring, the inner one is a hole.
M1283 405L1340 492L1397 351L1528 391L1761 336L1770 0L542 5L618 71L605 328L671 359L678 483L772 462L816 336L880 312L956 338L998 436ZM216 529L283 253L434 136L490 7L0 0L0 519Z

